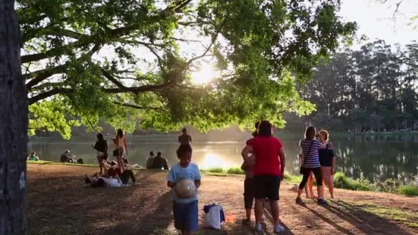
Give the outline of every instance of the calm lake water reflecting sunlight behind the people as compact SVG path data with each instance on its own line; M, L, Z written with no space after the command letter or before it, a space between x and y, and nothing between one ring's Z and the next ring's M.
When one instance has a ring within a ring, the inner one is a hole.
M332 137L332 136L331 136ZM241 150L245 144L243 137L239 141L192 143L192 161L200 168L241 166ZM174 139L174 141L171 141ZM175 150L178 147L175 135L153 137L130 137L129 163L144 165L149 151L162 152L168 164L177 162ZM110 148L111 139L107 138ZM298 174L298 137L281 136L287 154L286 170ZM28 151L36 151L45 161L59 161L61 153L69 149L85 163L96 164L96 150L91 141L61 141L50 138L31 139ZM337 168L354 179L365 177L371 181L384 181L388 178L402 181L417 180L418 175L418 135L342 135L331 139L336 153Z

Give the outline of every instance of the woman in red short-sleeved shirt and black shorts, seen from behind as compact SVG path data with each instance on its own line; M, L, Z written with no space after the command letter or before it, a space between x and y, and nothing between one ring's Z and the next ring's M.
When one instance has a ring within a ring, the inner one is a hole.
M241 155L245 159L255 155L253 175L255 183L255 216L257 232L261 232L261 217L264 212L264 200L269 199L274 218L274 232L285 230L278 220L278 190L285 172L286 155L280 140L272 136L272 124L263 121L259 126L259 135L249 141Z

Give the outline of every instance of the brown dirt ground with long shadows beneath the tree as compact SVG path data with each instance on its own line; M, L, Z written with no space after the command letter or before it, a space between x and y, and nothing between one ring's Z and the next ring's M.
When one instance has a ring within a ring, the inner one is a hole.
M175 234L166 172L136 172L140 186L124 188L83 187L83 176L95 168L28 164L29 234ZM243 177L203 175L199 208L218 203L227 222L221 231L201 229L198 234L254 234L243 219ZM281 187L281 234L418 234L412 219L418 212L417 197L336 190L339 201L318 206L294 203L292 185ZM364 208L366 206L366 208ZM373 211L366 210L374 208ZM377 210L375 210L377 208ZM382 209L383 208L383 209ZM386 208L386 209L384 209ZM404 213L396 217L391 209ZM381 216L375 212L391 213ZM200 223L203 210L199 210ZM408 217L406 216L406 217ZM263 234L273 234L266 214ZM201 227L201 226L200 226Z

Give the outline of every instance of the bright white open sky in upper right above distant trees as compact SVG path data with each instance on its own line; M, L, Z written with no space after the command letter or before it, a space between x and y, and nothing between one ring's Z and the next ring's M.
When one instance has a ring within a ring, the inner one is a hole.
M371 41L384 39L388 44L406 45L412 40L418 41L418 20L408 25L410 18L418 14L418 0L404 0L399 7L399 14L393 21L395 3L400 0L388 0L377 3L377 0L342 0L340 16L348 21L358 23L358 36L365 34ZM354 45L354 47L358 46Z

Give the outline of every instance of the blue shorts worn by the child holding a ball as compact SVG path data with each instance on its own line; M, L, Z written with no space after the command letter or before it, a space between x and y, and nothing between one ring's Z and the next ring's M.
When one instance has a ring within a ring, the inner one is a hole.
M199 209L197 201L190 203L174 203L174 227L181 231L197 231L199 225Z

